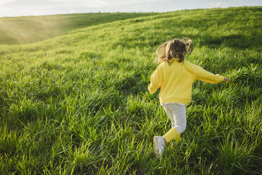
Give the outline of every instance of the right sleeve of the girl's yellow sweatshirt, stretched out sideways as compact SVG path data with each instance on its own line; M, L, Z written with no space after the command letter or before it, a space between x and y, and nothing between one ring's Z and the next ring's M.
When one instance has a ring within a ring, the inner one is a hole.
M197 80L201 80L204 81L206 83L212 83L212 84L218 84L223 82L224 77L220 76L219 74L214 75L213 73L210 73L206 70L204 70L204 68L201 68L199 66L197 66L197 71L196 71L196 79Z

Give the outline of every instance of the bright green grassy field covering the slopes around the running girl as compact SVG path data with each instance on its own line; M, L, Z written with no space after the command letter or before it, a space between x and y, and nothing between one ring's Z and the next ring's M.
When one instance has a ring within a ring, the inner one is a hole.
M0 174L262 174L262 7L92 13L77 27L85 16L32 40L1 33ZM152 139L171 124L147 85L173 37L230 83L194 83L183 142L160 161Z

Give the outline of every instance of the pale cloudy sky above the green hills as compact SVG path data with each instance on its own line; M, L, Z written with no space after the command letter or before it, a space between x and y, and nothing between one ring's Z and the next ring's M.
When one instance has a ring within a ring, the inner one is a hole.
M0 0L0 17L89 12L166 12L262 6L262 0Z

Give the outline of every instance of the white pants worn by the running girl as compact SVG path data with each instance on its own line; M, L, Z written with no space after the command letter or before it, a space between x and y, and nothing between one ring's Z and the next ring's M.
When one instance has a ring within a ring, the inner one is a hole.
M163 103L163 108L168 114L172 123L172 128L177 129L178 133L185 131L187 126L187 114L185 104L180 103Z

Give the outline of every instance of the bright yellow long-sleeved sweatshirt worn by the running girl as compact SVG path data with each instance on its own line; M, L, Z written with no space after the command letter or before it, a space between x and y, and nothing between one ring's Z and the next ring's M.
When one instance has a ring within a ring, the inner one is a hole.
M159 93L161 104L170 102L186 104L191 101L192 84L195 80L217 84L222 82L224 77L214 75L189 61L180 63L174 59L170 65L167 62L158 65L151 75L148 89L153 94L161 87Z

